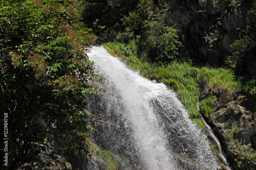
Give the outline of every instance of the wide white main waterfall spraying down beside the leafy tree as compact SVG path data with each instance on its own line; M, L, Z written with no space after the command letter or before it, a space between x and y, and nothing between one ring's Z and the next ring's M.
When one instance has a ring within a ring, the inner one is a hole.
M94 46L88 56L106 78L105 98L90 99L90 111L108 115L105 121L114 125L101 127L104 135L96 138L130 159L123 169L220 168L206 135L172 90L141 77L103 47Z

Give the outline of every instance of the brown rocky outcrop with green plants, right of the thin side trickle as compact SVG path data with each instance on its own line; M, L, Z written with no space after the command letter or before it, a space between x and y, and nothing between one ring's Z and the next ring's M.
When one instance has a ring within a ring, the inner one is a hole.
M256 103L245 96L233 100L221 88L205 84L200 100L208 98L209 95L217 98L209 124L224 145L229 162L236 168L256 169L255 160L252 161L246 156L249 154L246 145L250 143L256 149ZM238 145L234 144L239 142Z

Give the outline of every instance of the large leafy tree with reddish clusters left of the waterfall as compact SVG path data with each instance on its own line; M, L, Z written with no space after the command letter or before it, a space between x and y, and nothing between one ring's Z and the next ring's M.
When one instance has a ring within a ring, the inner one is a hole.
M75 20L72 0L0 2L0 112L9 138L1 169L53 164L38 156L52 141L68 160L90 154L83 99L98 77L84 52L95 37L73 31Z

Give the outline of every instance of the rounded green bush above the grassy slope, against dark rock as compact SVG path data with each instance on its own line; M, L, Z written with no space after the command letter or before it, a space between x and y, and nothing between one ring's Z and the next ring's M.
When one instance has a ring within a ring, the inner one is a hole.
M141 46L148 59L170 61L179 55L178 31L164 25L163 18L153 18L143 23Z

